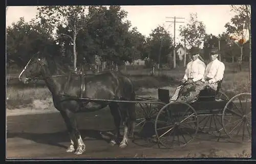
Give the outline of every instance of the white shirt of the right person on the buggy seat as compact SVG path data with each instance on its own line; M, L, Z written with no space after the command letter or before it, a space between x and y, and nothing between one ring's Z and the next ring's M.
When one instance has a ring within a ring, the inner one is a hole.
M224 63L218 59L215 59L214 61L207 64L204 78L202 79L202 81L205 81L207 77L212 78L211 80L209 80L210 84L215 83L217 81L221 81L223 79L224 71L225 71Z

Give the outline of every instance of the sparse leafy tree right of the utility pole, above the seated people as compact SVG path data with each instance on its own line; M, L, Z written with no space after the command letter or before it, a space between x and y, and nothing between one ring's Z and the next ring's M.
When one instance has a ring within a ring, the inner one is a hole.
M199 47L204 40L205 25L202 21L198 20L197 13L191 13L188 24L183 27L181 26L179 31L182 42L184 42L185 38L186 45Z

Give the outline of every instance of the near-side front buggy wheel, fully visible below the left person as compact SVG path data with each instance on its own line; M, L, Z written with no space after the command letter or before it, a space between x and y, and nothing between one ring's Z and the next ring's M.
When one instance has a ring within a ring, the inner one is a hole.
M167 147L184 147L198 131L196 110L187 103L170 102L157 114L155 132L159 142Z

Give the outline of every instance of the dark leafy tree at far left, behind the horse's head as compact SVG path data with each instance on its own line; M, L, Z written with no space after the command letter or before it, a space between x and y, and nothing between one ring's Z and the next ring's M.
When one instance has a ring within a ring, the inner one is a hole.
M7 63L25 66L32 55L58 54L59 46L48 31L50 27L35 20L25 22L21 17L19 21L7 28Z

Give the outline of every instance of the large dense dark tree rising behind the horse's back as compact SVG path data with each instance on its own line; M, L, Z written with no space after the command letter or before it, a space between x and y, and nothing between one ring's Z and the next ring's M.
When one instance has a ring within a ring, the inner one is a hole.
M93 24L88 26L88 32L94 40L92 52L100 56L102 62L113 62L123 65L138 58L139 42L143 36L136 28L131 28L130 21L124 21L127 12L120 6L90 6L89 17L95 17ZM143 41L142 41L143 42Z

